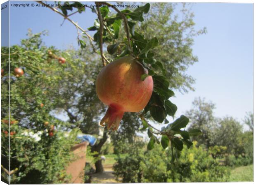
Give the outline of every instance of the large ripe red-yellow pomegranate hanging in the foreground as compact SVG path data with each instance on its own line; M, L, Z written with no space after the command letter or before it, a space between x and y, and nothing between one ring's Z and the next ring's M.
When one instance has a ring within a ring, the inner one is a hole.
M138 112L145 108L153 91L153 79L140 79L145 69L132 56L119 58L102 68L96 80L99 99L109 106L100 125L117 130L124 112Z

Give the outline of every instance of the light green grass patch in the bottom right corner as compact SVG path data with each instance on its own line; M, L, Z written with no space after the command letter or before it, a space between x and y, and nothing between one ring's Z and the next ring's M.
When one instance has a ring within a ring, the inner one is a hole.
M254 180L253 165L240 166L231 171L229 182L252 182Z

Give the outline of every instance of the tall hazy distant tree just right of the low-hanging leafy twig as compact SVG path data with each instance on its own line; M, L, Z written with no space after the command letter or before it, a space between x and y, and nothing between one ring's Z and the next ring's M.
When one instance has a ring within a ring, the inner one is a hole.
M186 112L186 115L190 118L189 130L201 130L202 135L197 136L195 140L198 144L204 144L207 148L215 145L213 137L217 125L216 118L213 116L213 109L215 109L215 104L198 97L192 102L192 109Z

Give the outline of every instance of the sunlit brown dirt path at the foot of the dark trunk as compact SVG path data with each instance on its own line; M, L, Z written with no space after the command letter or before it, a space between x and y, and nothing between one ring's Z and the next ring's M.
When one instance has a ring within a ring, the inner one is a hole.
M116 177L113 174L113 165L103 165L103 173L92 174L92 183L121 183L121 180L116 180Z

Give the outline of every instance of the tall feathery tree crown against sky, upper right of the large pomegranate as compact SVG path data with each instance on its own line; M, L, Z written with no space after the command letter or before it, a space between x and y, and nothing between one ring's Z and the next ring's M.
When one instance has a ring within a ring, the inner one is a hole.
M152 3L140 31L146 37L157 37L159 46L154 49L156 58L166 69L166 78L171 88L181 92L194 90L195 80L186 74L188 67L198 61L193 54L194 37L205 34L206 28L195 29L191 4L183 3L180 14L175 14L175 3Z

